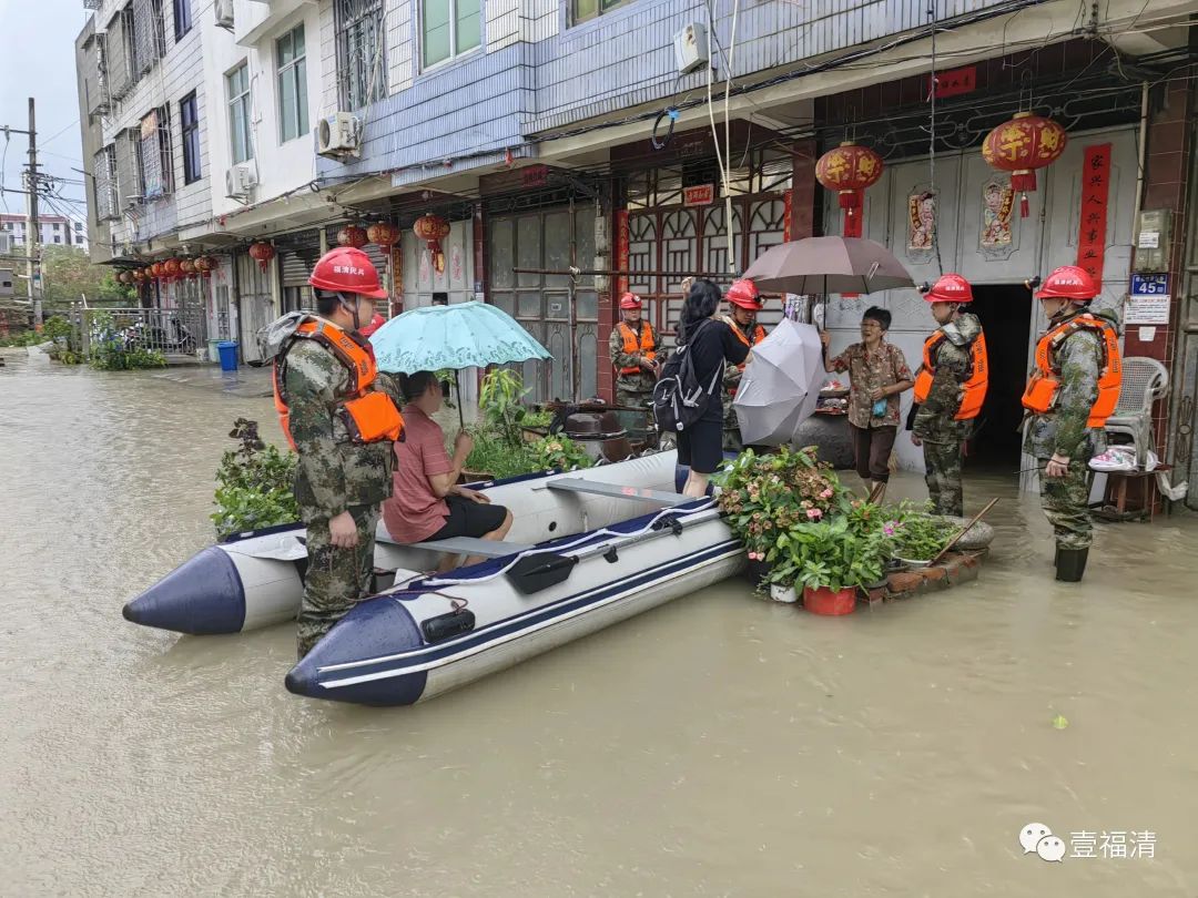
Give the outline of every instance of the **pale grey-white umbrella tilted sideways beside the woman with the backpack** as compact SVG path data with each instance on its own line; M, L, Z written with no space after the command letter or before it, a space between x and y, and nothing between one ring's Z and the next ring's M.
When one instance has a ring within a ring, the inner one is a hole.
M754 346L733 400L745 445L782 445L811 417L823 384L823 346L811 324L782 318Z

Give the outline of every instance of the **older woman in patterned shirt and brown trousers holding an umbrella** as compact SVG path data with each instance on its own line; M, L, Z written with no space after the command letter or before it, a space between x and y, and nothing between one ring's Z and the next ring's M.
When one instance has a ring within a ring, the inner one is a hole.
M902 350L885 341L890 313L871 307L861 316L861 342L828 358L828 334L821 334L825 371L848 371L848 424L853 431L857 473L866 490L882 498L890 480L890 451L898 433L898 394L914 386ZM872 481L872 483L871 483Z

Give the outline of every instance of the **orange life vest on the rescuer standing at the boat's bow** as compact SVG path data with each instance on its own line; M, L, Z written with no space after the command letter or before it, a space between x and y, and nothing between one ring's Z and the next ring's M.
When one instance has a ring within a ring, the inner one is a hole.
M374 356L349 333L331 321L305 318L296 328L288 345L274 358L274 408L288 443L296 448L291 438L291 412L288 408L284 378L288 352L296 340L315 340L327 348L350 372L350 396L340 402L334 414L345 423L353 443L377 443L382 439L399 439L404 432L404 418L386 393L370 389L379 369Z

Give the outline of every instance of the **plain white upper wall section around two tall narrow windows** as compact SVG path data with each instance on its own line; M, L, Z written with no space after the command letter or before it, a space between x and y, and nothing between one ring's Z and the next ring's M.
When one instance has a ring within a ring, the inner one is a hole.
M326 4L328 5L328 4ZM286 7L288 5L282 5ZM212 165L212 212L219 217L237 212L244 206L225 198L225 171L232 165L232 147L229 142L229 104L225 92L225 74L243 60L249 62L252 113L252 141L254 164L258 169L258 187L250 196L250 205L276 199L290 190L302 188L316 174L316 156L313 148L311 128L319 121L321 97L321 7L311 2L294 4L295 8L280 16L272 16L261 28L271 7L252 0L238 0L235 7L237 31L246 35L255 30L254 43L243 47L236 36L214 29L204 54L204 81L208 86L212 102L208 114L208 159ZM246 10L247 19L237 19ZM241 22L252 23L242 25ZM308 131L298 138L280 142L278 72L274 42L278 37L303 23L307 53ZM284 214L279 211L280 217ZM277 229L272 229L277 230Z

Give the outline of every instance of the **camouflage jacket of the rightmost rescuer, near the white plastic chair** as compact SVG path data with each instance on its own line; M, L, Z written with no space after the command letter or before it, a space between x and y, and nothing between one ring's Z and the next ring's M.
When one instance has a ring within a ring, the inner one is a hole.
M1109 310L1090 309L1091 315L1118 326ZM1077 313L1075 313L1077 314ZM1051 327L1069 321L1072 315L1054 318ZM1053 370L1060 371L1055 406L1045 414L1031 414L1023 451L1036 459L1063 455L1087 461L1107 447L1101 427L1087 427L1090 407L1099 398L1102 370L1102 345L1091 330L1076 330L1053 352Z

